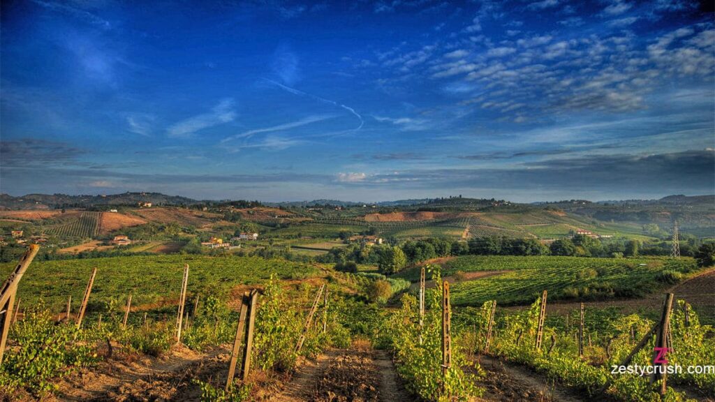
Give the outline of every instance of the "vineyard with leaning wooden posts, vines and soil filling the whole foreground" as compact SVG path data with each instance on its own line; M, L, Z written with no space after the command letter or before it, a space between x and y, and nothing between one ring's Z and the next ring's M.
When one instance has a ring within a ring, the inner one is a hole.
M671 364L711 364L713 329L689 300L669 299L672 312L660 320L592 307L587 299L581 314L546 313L543 290L552 303L565 294L564 280L628 280L636 288L659 273L694 273L691 260L464 257L444 266L408 271L402 276L421 285L408 290L405 280L280 259L34 261L12 295L16 308L6 308L15 323L1 316L10 325L0 394L19 401L511 401L500 387L516 383L524 401L558 400L544 399L553 387L568 401L715 396L715 373L675 373L667 383L611 373L625 361L648 365L666 340ZM4 264L0 274L15 269ZM480 290L475 283L490 278L442 279L505 270L527 276ZM523 288L538 273L548 275ZM420 280L425 276L430 280ZM646 300L655 310L667 301ZM510 302L531 307L512 310ZM508 372L483 360L528 368L551 386L504 378ZM490 378L497 376L503 383L495 389Z

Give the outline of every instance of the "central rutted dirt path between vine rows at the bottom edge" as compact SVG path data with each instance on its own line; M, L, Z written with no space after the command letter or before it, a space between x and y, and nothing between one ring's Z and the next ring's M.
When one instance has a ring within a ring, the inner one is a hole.
M305 361L272 402L415 401L383 350L332 349Z

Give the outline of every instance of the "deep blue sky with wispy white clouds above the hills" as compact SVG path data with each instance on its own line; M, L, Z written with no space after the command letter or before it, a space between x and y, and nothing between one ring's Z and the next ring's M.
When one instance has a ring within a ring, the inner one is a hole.
M0 191L707 194L693 1L6 1Z

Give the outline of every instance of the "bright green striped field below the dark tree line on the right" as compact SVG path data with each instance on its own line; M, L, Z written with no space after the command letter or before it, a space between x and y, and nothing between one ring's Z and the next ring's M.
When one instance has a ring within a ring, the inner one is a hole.
M457 271L509 271L477 280L453 283L454 305L481 305L497 300L501 305L531 303L542 290L551 300L606 300L636 298L665 288L672 273L684 279L698 270L691 258L576 258L468 255L444 264L443 275ZM399 277L419 280L418 268Z

